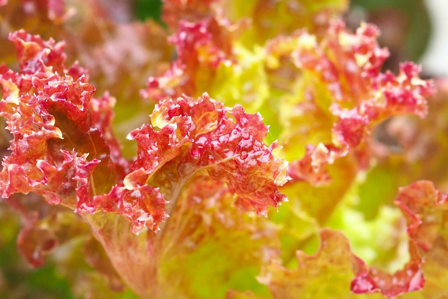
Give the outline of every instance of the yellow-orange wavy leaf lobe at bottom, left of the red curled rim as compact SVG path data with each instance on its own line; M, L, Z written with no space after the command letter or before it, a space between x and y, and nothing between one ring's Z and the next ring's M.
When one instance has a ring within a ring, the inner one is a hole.
M297 268L284 268L281 260L262 267L258 281L269 288L273 298L356 298L349 293L349 285L357 258L347 238L329 229L321 230L320 237L320 247L313 255L297 251Z

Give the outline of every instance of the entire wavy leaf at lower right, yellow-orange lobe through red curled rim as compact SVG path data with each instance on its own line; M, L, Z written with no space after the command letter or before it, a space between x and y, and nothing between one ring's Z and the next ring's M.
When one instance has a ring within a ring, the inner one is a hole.
M259 281L270 288L274 298L293 298L292 294L297 292L314 290L321 280L334 280L326 284L328 288L331 283L345 282L353 274L350 289L355 294L379 292L387 298L395 298L421 290L425 284L425 254L435 247L436 239L445 234L447 195L441 194L432 182L418 181L400 188L395 203L406 217L409 236L410 259L403 269L388 273L367 266L353 254L343 233L322 229L316 253L308 256L297 251L297 269L286 269L280 260L274 259L262 268Z

